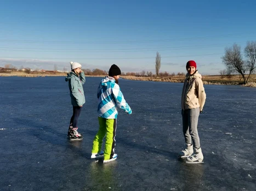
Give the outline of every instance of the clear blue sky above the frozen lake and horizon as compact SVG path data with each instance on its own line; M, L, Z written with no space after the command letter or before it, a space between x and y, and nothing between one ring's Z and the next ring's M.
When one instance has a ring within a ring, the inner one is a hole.
M0 67L218 74L225 47L256 34L255 1L0 1Z

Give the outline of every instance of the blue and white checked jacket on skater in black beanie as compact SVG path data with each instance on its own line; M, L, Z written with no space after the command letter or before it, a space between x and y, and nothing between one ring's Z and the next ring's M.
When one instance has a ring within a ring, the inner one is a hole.
M99 117L107 119L117 118L117 107L126 111L128 114L132 114L132 109L126 103L123 93L113 77L106 76L101 80L97 97L99 99Z

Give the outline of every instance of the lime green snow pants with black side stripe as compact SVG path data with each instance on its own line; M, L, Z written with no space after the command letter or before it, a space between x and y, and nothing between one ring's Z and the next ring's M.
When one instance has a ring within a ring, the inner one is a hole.
M100 127L93 140L92 153L99 153L101 151L103 139L106 136L104 160L109 160L113 157L113 154L115 154L116 119L98 117L98 120Z

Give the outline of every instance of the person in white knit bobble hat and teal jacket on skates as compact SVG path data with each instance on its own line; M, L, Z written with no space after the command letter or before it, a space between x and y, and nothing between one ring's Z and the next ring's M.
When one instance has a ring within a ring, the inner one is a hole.
M82 66L78 62L70 62L71 72L65 78L69 82L71 104L73 105L73 115L70 119L69 130L67 138L70 140L82 140L83 135L77 132L77 123L80 116L82 106L86 103L84 97L83 84L86 82L86 77L81 69Z

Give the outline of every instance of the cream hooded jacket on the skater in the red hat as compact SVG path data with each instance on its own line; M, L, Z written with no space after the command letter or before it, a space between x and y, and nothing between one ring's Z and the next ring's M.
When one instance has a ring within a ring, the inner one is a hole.
M204 92L202 75L198 74L197 70L193 75L187 73L181 95L181 108L183 110L200 108L202 111L205 102L206 92Z

